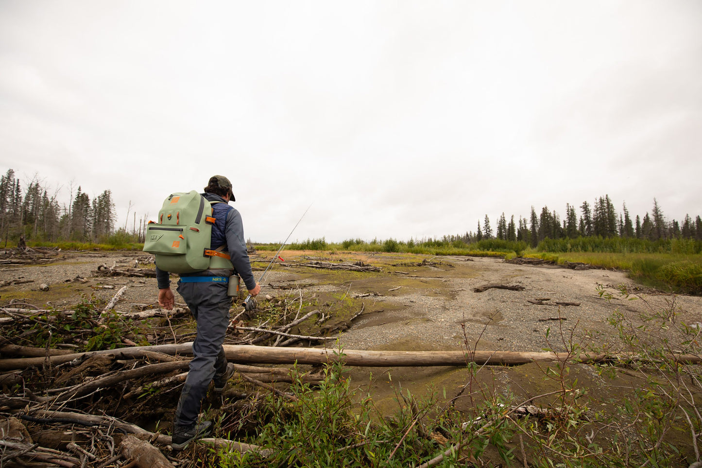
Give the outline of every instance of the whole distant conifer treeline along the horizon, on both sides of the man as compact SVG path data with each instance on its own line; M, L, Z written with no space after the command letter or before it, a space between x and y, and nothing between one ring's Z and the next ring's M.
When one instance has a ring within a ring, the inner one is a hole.
M61 202L58 190L53 194L41 185L34 176L31 181L20 184L13 169L8 169L0 178L0 235L5 241L16 242L20 235L25 240L37 242L119 242L140 241L144 219L137 228L134 214L131 233L124 228L115 230L115 214L112 192L103 191L91 198L79 186L71 200ZM494 252L521 252L527 247L545 252L670 252L699 253L702 245L702 219L686 214L684 219L665 219L663 210L654 198L651 213L638 214L632 218L626 208L617 212L609 195L597 198L592 204L585 201L579 208L566 204L562 219L555 210L543 207L537 214L531 207L531 216L508 221L503 213L492 228L487 215L477 223L477 229L465 234L444 235L442 238L404 240L377 240L366 242L360 239L343 241L343 249L376 249L385 252L419 251L434 249L491 250ZM486 242L493 241L493 242ZM503 242L494 242L503 241ZM324 238L298 242L292 247L326 248ZM379 248L378 248L379 247Z

